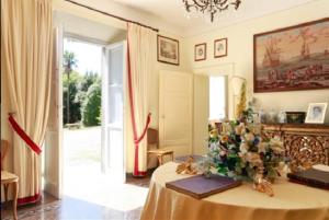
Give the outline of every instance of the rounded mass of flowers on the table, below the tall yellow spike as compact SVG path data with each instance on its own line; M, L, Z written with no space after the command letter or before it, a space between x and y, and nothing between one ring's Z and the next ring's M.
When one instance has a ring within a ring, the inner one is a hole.
M269 189L284 165L283 142L277 137L261 138L260 124L227 121L220 134L209 126L208 148L207 157L218 174L251 180L259 190Z

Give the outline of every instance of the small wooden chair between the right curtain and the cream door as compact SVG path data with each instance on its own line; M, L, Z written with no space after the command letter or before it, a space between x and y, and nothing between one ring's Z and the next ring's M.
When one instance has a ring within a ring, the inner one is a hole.
M148 154L154 154L158 159L159 165L163 164L163 157L170 155L171 161L173 161L173 150L169 149L159 149L159 135L158 130L154 128L147 129L147 144L148 144ZM156 149L149 149L150 146L156 146Z

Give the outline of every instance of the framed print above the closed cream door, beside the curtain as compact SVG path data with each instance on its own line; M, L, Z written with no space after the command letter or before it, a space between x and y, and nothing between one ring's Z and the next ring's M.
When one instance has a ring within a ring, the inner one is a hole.
M158 35L158 61L180 65L179 40Z

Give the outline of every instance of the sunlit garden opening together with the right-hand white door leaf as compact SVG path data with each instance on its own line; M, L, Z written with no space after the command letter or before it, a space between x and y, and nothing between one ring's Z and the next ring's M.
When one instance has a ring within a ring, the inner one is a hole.
M72 112L69 118L64 117L64 195L81 198L83 187L97 187L106 181L125 182L125 43L103 46L67 37L64 51L64 63L67 53L75 55L77 61L70 84L66 82L66 71L63 76L63 115L67 109L65 91L70 91L67 96ZM86 196L90 199L91 195Z

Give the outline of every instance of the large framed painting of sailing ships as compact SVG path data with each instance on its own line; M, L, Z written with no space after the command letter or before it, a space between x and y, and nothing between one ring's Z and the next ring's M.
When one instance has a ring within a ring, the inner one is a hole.
M253 36L253 90L329 88L329 18Z

